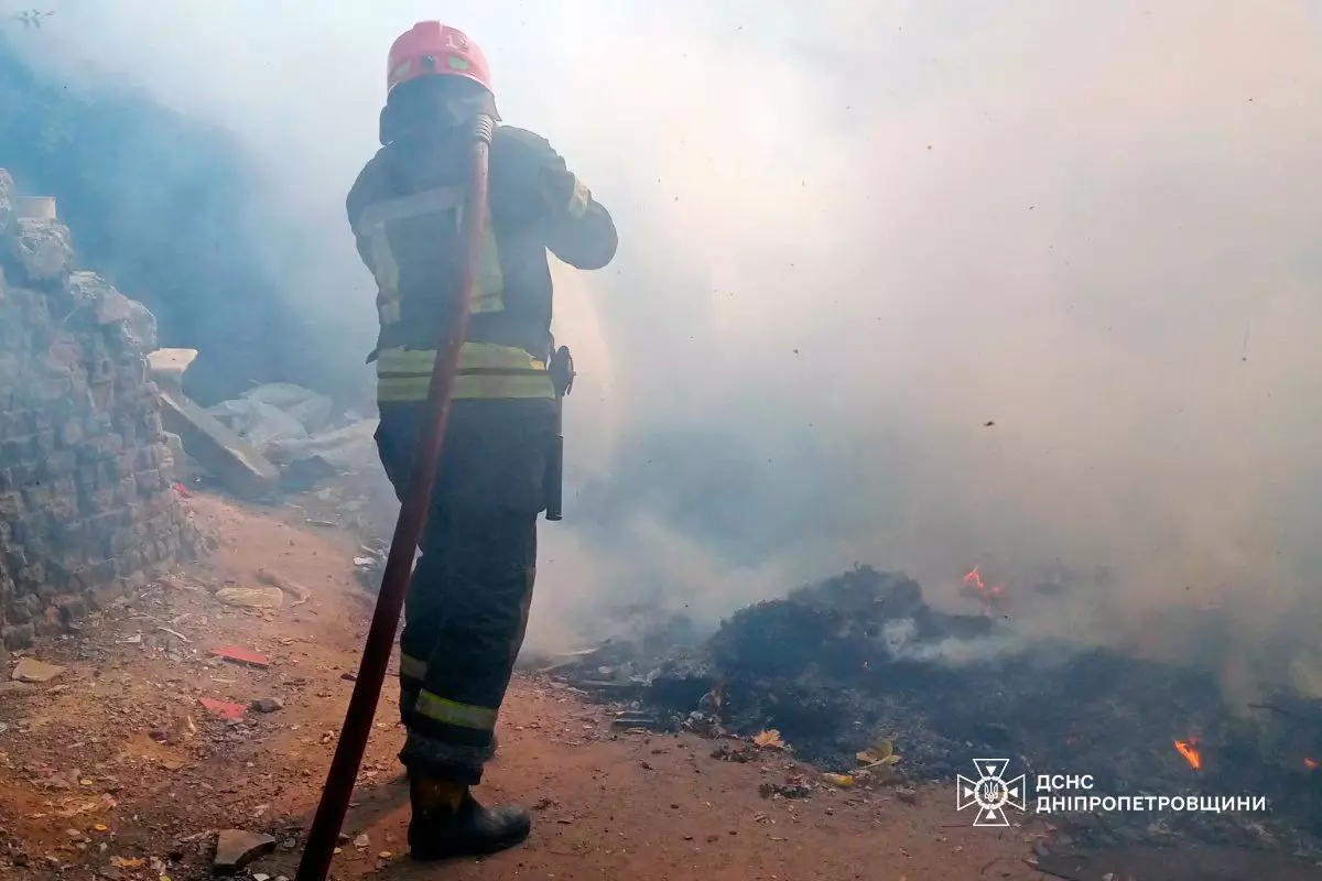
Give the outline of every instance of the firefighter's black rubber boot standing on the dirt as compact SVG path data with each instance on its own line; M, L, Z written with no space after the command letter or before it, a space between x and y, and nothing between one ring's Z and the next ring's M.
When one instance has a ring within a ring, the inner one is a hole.
M483 807L465 790L457 807L423 807L414 802L408 849L419 861L483 856L522 844L531 828L533 819L524 808Z

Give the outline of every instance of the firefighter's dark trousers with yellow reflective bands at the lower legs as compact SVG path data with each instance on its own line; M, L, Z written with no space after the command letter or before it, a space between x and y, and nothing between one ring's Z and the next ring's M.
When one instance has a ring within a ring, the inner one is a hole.
M382 404L377 448L403 498L426 405ZM554 402L456 400L399 645L399 758L476 785L533 600Z

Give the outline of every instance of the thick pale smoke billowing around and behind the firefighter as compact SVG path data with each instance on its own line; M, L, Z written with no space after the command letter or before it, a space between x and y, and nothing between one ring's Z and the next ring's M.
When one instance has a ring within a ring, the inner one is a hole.
M1322 688L1303 0L48 5L36 63L243 139L328 376L371 345L342 197L415 20L612 209L617 262L557 272L582 375L534 641L854 560L956 601L980 564L1026 633ZM1058 567L1112 576L1025 589Z

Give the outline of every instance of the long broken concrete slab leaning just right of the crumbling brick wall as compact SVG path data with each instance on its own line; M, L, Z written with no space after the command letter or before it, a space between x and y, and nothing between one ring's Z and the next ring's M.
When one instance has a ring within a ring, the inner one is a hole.
M165 431L182 439L188 454L234 494L260 499L279 487L275 465L182 392L161 390L161 421Z

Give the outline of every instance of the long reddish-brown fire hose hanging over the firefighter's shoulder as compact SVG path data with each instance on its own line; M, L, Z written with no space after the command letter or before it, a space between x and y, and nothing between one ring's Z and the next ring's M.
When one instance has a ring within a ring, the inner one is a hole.
M381 687L386 679L386 667L394 650L395 631L399 627L399 614L403 610L408 579L412 575L414 555L418 542L427 526L427 511L431 506L432 487L436 482L436 469L440 461L442 444L446 437L446 423L449 419L449 405L453 399L455 376L459 372L459 355L468 335L469 308L473 289L477 284L479 258L483 248L483 230L486 226L486 184L488 157L490 153L493 122L490 116L479 116L473 127L472 170L468 180L468 195L463 214L464 235L468 250L463 267L460 297L456 305L455 321L449 322L448 334L440 341L436 362L431 370L431 387L427 394L427 419L423 420L422 435L414 453L412 473L408 491L401 501L399 519L390 540L390 553L386 557L386 571L381 577L381 592L377 608L371 616L371 627L358 663L358 679L349 697L349 709L344 716L344 728L336 744L327 785L321 791L321 802L308 831L308 843L299 863L296 881L325 881L330 870L330 860L353 796L353 785L358 778L362 756L371 734L371 722L381 700ZM567 353L566 353L567 354Z

